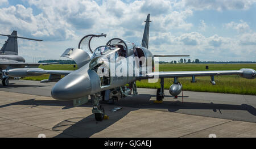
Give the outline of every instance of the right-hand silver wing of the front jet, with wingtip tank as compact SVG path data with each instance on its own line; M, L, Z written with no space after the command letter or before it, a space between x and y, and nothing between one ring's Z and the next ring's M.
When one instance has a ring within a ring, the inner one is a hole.
M254 79L255 70L241 69L241 70L226 70L226 71L165 71L147 74L148 78L181 78L189 76L214 76L214 75L241 75L243 78Z

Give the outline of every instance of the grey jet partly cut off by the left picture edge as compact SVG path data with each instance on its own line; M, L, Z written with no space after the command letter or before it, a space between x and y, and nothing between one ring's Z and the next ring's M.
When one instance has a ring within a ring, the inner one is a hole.
M17 31L13 31L11 35L2 35L7 36L8 39L5 41L5 44L2 46L0 50L0 79L2 80L3 86L9 85L9 77L4 75L3 73L6 70L14 69L14 68L23 68L23 67L38 67L39 65L48 65L52 63L25 63L25 59L21 56L18 56L18 42L17 39L26 39L26 40L34 40L34 41L42 41L38 39L29 39L26 37L18 37ZM17 76L19 77L19 76Z

